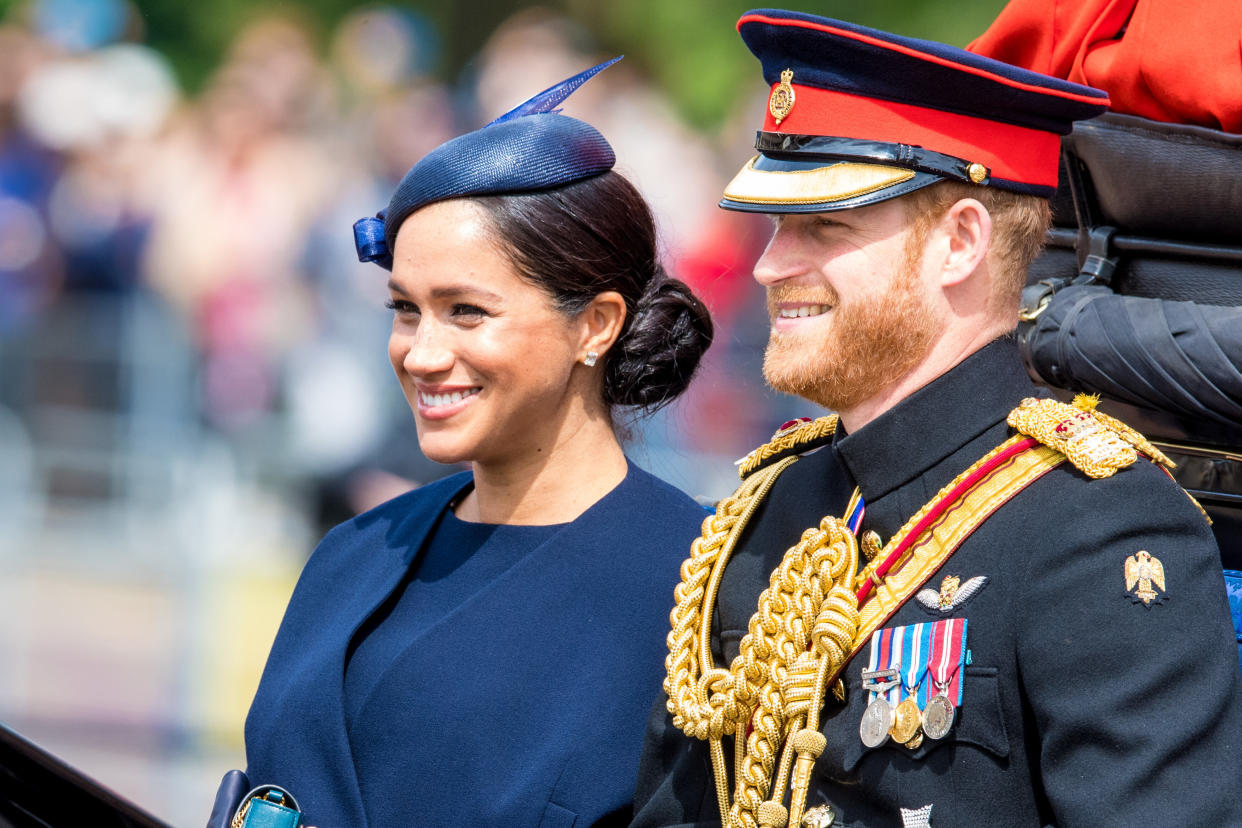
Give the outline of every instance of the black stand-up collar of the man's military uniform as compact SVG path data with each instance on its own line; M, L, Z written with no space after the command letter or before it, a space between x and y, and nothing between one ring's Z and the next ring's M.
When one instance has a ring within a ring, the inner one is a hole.
M868 502L919 477L1004 421L1035 386L1017 344L997 339L833 447Z

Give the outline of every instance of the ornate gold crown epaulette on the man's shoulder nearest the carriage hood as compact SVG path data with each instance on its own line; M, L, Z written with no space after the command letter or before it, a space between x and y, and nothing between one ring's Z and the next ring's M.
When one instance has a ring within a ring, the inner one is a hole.
M1066 456L1074 468L1093 478L1112 477L1146 454L1172 468L1174 463L1146 437L1120 420L1097 411L1099 397L1079 394L1072 403L1027 397L1013 408L1009 425Z

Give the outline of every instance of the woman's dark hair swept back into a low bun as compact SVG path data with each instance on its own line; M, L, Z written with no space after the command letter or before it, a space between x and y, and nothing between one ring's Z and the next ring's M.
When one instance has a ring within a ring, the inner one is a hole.
M625 298L626 320L605 355L604 401L655 411L689 385L712 344L712 317L656 258L651 209L607 171L551 190L473 199L498 247L566 315L604 290Z

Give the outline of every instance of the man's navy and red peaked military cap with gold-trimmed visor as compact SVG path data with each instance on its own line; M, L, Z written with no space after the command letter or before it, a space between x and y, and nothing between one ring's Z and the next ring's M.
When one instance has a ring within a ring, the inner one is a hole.
M827 17L761 9L738 31L771 93L728 210L846 210L946 179L1048 197L1061 135L1108 108L1099 89Z

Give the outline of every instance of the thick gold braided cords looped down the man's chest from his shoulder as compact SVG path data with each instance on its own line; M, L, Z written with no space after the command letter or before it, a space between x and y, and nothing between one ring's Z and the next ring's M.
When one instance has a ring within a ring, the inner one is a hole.
M815 431L822 428L823 423ZM814 763L822 750L811 735L794 736L806 730L818 735L826 677L843 663L858 629L857 600L851 591L858 569L857 542L842 520L827 516L802 534L773 572L729 669L714 667L710 614L724 567L750 515L795 459L782 458L745 477L741 487L703 521L703 535L682 565L682 582L669 617L664 679L668 710L678 729L710 742L725 826L775 824L777 811L784 812L780 799L794 763L792 752L799 754L797 775L809 768L807 758ZM756 461L756 466L761 463ZM733 797L720 744L730 734L738 736ZM784 755L779 757L782 745ZM777 758L780 771L774 786ZM765 802L773 791L775 802ZM777 822L784 824L784 819Z

